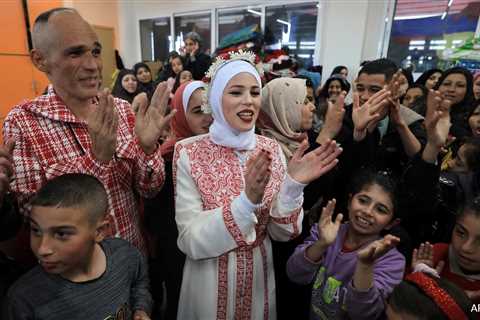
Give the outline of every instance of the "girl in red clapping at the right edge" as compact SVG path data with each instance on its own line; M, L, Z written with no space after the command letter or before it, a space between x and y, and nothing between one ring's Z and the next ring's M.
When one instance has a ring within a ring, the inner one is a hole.
M480 197L468 203L457 216L451 243L423 243L414 250L412 268L436 268L440 277L462 288L480 303Z

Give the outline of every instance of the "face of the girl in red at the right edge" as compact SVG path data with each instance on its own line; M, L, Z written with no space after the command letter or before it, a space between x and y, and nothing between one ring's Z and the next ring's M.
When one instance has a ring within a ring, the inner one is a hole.
M480 273L480 218L465 212L457 219L452 233L452 247L464 271Z

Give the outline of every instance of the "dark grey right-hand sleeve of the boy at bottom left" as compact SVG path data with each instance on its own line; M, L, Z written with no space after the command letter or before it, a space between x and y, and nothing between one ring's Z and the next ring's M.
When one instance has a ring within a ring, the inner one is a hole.
M137 268L134 274L134 281L130 289L132 311L145 311L147 314L152 313L153 299L150 294L150 281L148 277L147 262L145 257L136 248L131 246L131 250L135 251Z

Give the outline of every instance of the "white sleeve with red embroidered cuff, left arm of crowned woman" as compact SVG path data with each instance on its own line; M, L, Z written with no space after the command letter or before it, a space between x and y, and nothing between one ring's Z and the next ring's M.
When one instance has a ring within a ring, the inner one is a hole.
M255 241L255 208L245 201L243 193L227 206L203 210L188 155L180 144L175 147L173 162L177 243L181 251L194 260L207 259Z

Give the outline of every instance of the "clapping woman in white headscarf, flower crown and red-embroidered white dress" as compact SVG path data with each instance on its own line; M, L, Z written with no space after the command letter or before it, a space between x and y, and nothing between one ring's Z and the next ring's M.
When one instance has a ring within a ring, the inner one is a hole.
M187 256L179 319L276 319L270 237L300 233L305 184L341 152L330 141L303 155L305 142L287 167L279 145L254 132L262 84L251 55L229 58L208 72L209 134L175 146L177 243Z

